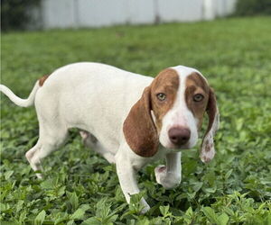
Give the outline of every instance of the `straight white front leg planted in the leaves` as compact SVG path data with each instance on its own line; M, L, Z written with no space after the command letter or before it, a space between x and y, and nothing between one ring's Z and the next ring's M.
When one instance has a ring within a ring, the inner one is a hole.
M131 195L139 193L140 191L135 178L135 167L133 166L131 158L127 155L126 152L119 150L115 158L119 184L126 197L126 202L130 203ZM142 198L140 202L144 207L141 213L145 213L150 209L150 206L145 202L144 198Z

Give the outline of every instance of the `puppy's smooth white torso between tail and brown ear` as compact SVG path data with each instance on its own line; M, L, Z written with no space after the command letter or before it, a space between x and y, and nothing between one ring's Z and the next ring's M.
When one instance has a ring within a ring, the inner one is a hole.
M43 121L89 131L116 153L123 121L152 80L107 65L72 64L45 81L36 94L36 110Z

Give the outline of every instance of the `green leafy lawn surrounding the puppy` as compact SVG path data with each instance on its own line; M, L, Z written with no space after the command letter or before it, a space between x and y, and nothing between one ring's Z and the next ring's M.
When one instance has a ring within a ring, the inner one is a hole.
M157 163L139 173L152 207L140 215L140 196L126 204L115 166L84 148L77 130L44 160L46 178L37 180L24 157L38 137L34 109L1 94L2 224L271 224L270 23L257 17L3 34L1 83L22 97L37 78L76 61L149 76L186 65L208 77L221 123L210 164L200 161L200 141L183 152L178 188L156 184Z

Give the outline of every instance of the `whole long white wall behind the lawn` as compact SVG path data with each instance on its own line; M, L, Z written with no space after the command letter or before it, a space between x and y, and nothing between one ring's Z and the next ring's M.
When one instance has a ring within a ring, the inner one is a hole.
M230 14L236 0L42 0L42 27L192 22Z

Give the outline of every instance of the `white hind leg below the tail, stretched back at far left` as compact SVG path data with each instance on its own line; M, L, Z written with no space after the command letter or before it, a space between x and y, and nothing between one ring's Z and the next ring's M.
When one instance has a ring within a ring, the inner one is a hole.
M25 157L32 166L33 171L42 170L42 159L51 154L52 151L60 148L67 138L68 131L61 129L61 126L40 127L40 137L37 144L26 152ZM36 173L42 178L41 173Z

